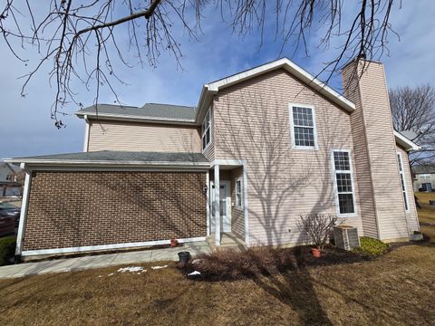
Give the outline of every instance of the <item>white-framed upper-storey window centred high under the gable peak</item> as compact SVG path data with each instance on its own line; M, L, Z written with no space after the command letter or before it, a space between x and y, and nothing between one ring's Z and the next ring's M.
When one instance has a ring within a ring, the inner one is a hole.
M290 104L290 127L294 149L317 149L314 107Z

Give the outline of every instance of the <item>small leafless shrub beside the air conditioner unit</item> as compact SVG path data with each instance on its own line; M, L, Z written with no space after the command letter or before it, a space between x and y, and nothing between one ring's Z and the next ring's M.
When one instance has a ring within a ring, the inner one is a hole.
M309 213L300 216L298 225L308 235L311 243L322 251L337 221L334 214Z

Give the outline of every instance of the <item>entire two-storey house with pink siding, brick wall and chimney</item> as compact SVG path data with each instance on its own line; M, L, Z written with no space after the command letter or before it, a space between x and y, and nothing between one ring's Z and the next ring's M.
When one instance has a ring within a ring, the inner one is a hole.
M366 63L344 67L346 98L280 59L205 84L195 108L79 110L82 153L8 160L27 171L16 254L219 245L223 233L301 245L311 212L407 241L420 229L407 156L418 147L392 128L382 63Z

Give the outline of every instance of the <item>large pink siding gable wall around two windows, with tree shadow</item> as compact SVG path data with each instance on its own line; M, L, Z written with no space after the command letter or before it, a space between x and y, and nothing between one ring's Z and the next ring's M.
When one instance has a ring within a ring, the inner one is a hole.
M291 103L314 106L318 149L291 148ZM220 91L214 108L216 158L247 159L251 244L303 243L299 215L336 212L331 149L350 149L354 162L349 113L284 70ZM356 191L358 216L346 223L362 235L359 206Z

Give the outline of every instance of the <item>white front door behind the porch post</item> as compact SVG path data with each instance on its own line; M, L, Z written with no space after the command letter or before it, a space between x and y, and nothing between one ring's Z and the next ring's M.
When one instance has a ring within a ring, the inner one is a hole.
M222 232L231 232L231 190L230 182L220 180L220 229ZM210 181L210 235L215 232L215 185Z

